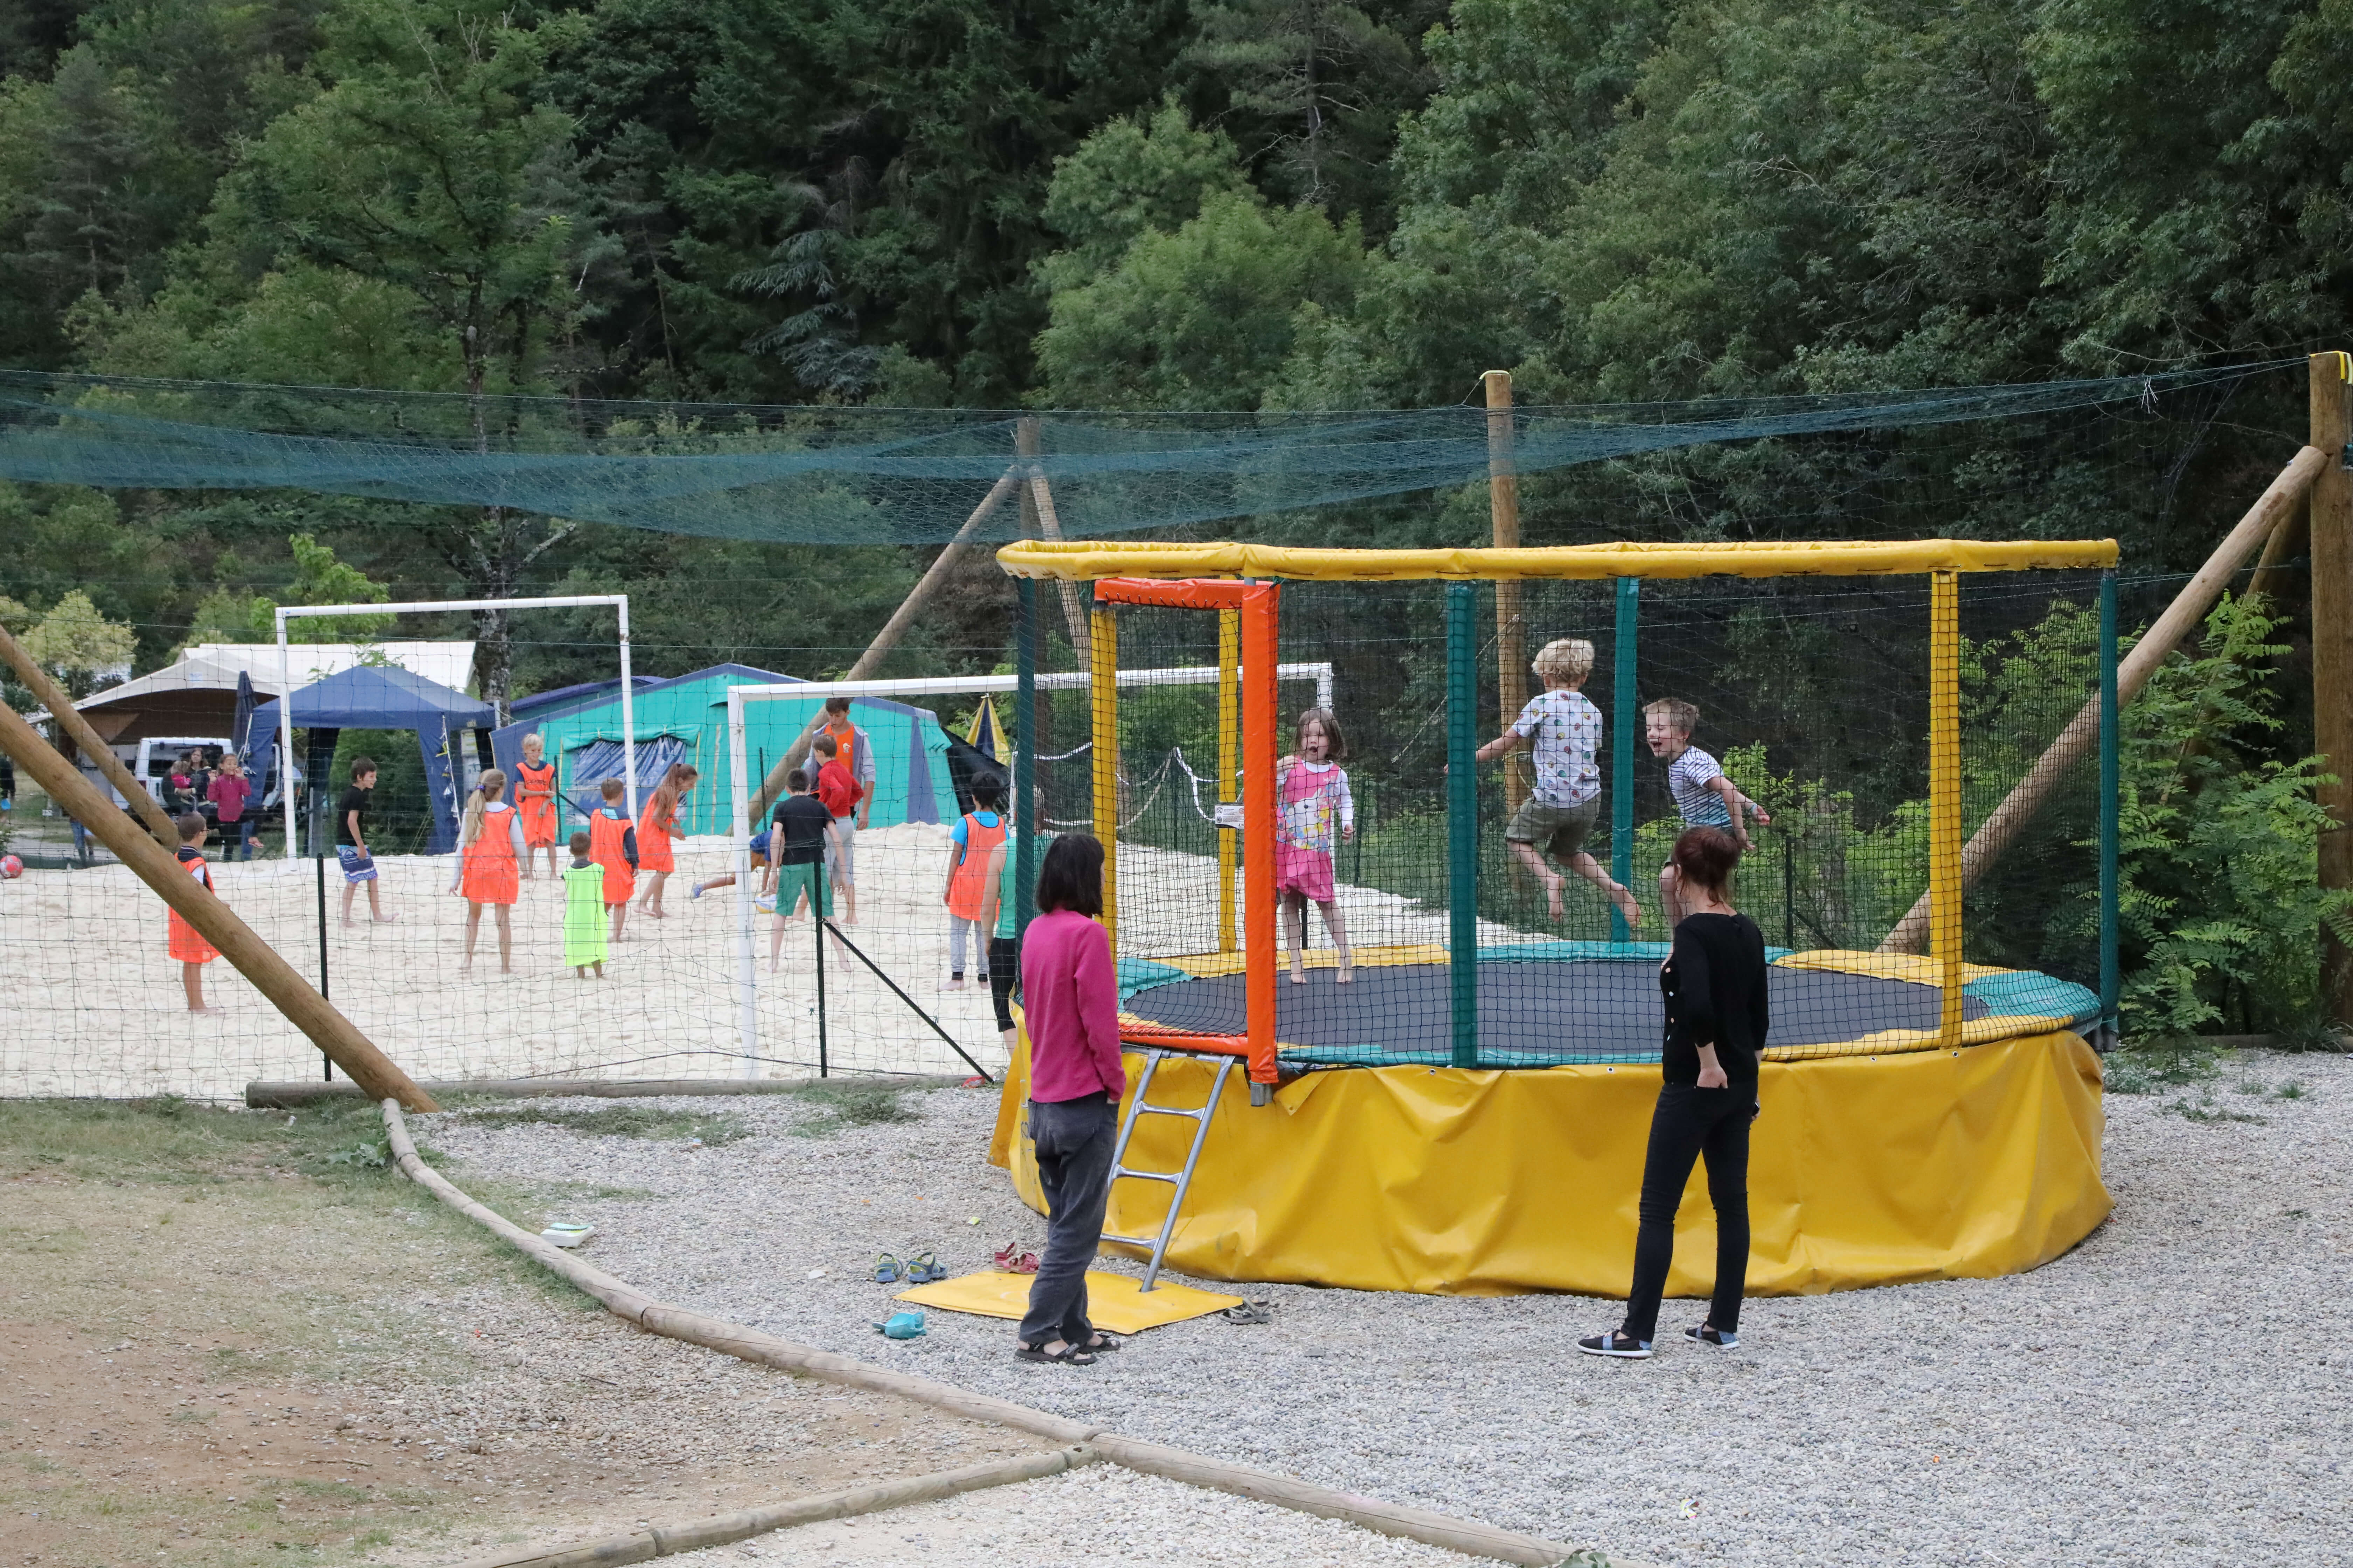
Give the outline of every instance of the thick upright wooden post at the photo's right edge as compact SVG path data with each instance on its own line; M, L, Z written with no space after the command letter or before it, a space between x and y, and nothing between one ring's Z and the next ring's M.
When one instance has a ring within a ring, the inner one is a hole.
M2313 752L2329 773L2313 797L2334 818L2320 830L2320 889L2353 889L2353 475L2346 475L2346 378L2341 353L2311 357L2311 444L2327 458L2308 498L2313 536ZM2320 929L2322 1006L2353 1025L2353 950Z

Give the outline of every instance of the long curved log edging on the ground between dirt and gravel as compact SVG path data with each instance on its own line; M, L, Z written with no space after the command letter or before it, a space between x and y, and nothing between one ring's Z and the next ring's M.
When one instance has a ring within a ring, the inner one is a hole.
M986 1420L1000 1427L1012 1427L1016 1432L1035 1432L1038 1436L1049 1436L1059 1443L1085 1443L1094 1448L1101 1458L1115 1460L1129 1469L1165 1476L1169 1481L1184 1481L1186 1486L1202 1486L1209 1490L1224 1490L1240 1497L1257 1497L1259 1502L1273 1502L1278 1507L1299 1509L1304 1514L1318 1514L1322 1519L1344 1519L1348 1523L1377 1530L1381 1535L1402 1535L1407 1540L1428 1542L1433 1547L1447 1547L1449 1552L1464 1552L1471 1556L1492 1556L1506 1563L1560 1563L1565 1568L1647 1568L1624 1556L1607 1556L1595 1549L1565 1547L1560 1542L1548 1542L1537 1535L1520 1535L1515 1530L1499 1530L1494 1526L1449 1519L1447 1514L1433 1514L1428 1509L1402 1507L1395 1502L1381 1502L1379 1497L1358 1497L1353 1493L1341 1493L1329 1486L1313 1486L1297 1476L1282 1476L1271 1469L1254 1469L1249 1465L1228 1465L1226 1460L1212 1460L1207 1455L1188 1453L1184 1448L1167 1448L1162 1443L1144 1443L1136 1439L1118 1436L1104 1427L1087 1422L1066 1420L1061 1415L1047 1415L1045 1410L1031 1410L1028 1406L1016 1406L1009 1399L991 1399L988 1394L969 1394L965 1389L951 1387L946 1382L934 1382L929 1378L911 1378L906 1373L892 1373L880 1366L866 1366L864 1361L852 1361L849 1356L835 1356L824 1349L812 1349L807 1345L793 1345L791 1340L779 1340L772 1333L760 1333L758 1328L744 1328L741 1324L727 1324L701 1312L685 1312L647 1298L642 1291L624 1279L614 1279L605 1269L581 1262L572 1253L541 1241L520 1225L508 1222L494 1208L475 1204L471 1197L459 1192L449 1180L424 1164L416 1157L416 1145L409 1140L407 1121L400 1114L400 1105L384 1100L384 1138L393 1150L393 1161L400 1166L402 1175L426 1187L442 1204L449 1204L473 1222L487 1227L489 1232L504 1237L508 1244L541 1262L548 1272L572 1281L588 1295L605 1302L605 1307L671 1340L687 1340L689 1345L704 1345L706 1349L718 1349L722 1354L736 1356L739 1361L758 1361L762 1366L776 1366L791 1373L805 1373L824 1382L840 1382L849 1387L873 1389L878 1394L896 1394L899 1399L913 1399L951 1415L962 1415L967 1420ZM704 1542L708 1544L708 1542ZM504 1561L504 1559L501 1559ZM522 1559L527 1563L539 1563L541 1559ZM579 1559L588 1561L645 1561L645 1559ZM546 1563L544 1568L553 1568Z

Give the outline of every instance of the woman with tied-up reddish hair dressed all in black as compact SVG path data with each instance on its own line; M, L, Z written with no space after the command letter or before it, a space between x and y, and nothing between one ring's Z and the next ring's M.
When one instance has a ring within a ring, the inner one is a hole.
M1748 1284L1748 1124L1758 1114L1758 1053L1765 1048L1765 933L1732 907L1741 849L1722 827L1675 839L1668 870L1687 910L1675 950L1659 966L1666 997L1666 1051L1659 1107L1642 1159L1642 1229L1633 1244L1626 1324L1577 1342L1588 1356L1649 1356L1659 1298L1675 1260L1675 1206L1692 1161L1708 1161L1715 1201L1715 1300L1708 1321L1685 1328L1704 1345L1739 1345L1741 1288Z

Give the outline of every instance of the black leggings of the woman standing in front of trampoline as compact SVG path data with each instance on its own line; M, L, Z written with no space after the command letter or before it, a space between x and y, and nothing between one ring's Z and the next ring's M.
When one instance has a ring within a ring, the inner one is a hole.
M1739 1331L1748 1284L1748 1121L1755 1095L1755 1084L1668 1084L1659 1091L1659 1107L1649 1114L1649 1154L1642 1159L1642 1229L1633 1241L1633 1286L1619 1331L1626 1338L1657 1338L1659 1298L1675 1262L1675 1208L1692 1180L1692 1161L1701 1157L1715 1201L1715 1300L1708 1321L1722 1333Z

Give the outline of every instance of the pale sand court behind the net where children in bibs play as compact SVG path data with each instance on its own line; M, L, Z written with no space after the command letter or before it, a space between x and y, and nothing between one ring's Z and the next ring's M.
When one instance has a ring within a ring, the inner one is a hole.
M416 1079L456 1077L805 1077L838 1072L955 1074L1005 1063L988 987L944 990L948 917L939 903L948 835L904 823L859 835L859 919L845 936L906 992L854 957L828 950L824 1011L807 922L786 926L767 969L774 922L753 914L746 1009L734 889L689 898L696 879L729 870L725 839L687 839L664 891L668 919L631 912L602 980L562 961L562 893L544 875L511 914L513 973L499 971L496 924L482 914L464 971L468 905L449 896L449 858L384 858L379 896L391 924L341 924L341 875L327 865L325 954L318 863L214 865L224 900ZM642 884L640 884L642 891ZM1217 863L1125 846L1122 957L1217 947ZM1445 912L1372 889L1341 889L1358 945L1435 943ZM1511 940L1482 924L1482 940ZM1311 945L1322 945L1318 922ZM214 1013L188 1013L181 966L165 952L165 907L129 870L26 872L0 882L0 1098L186 1095L235 1100L252 1079L308 1079L322 1058L226 961L205 966ZM920 1013L918 1013L920 1009ZM744 1048L746 1013L755 1048ZM824 1039L819 1039L824 1023Z

